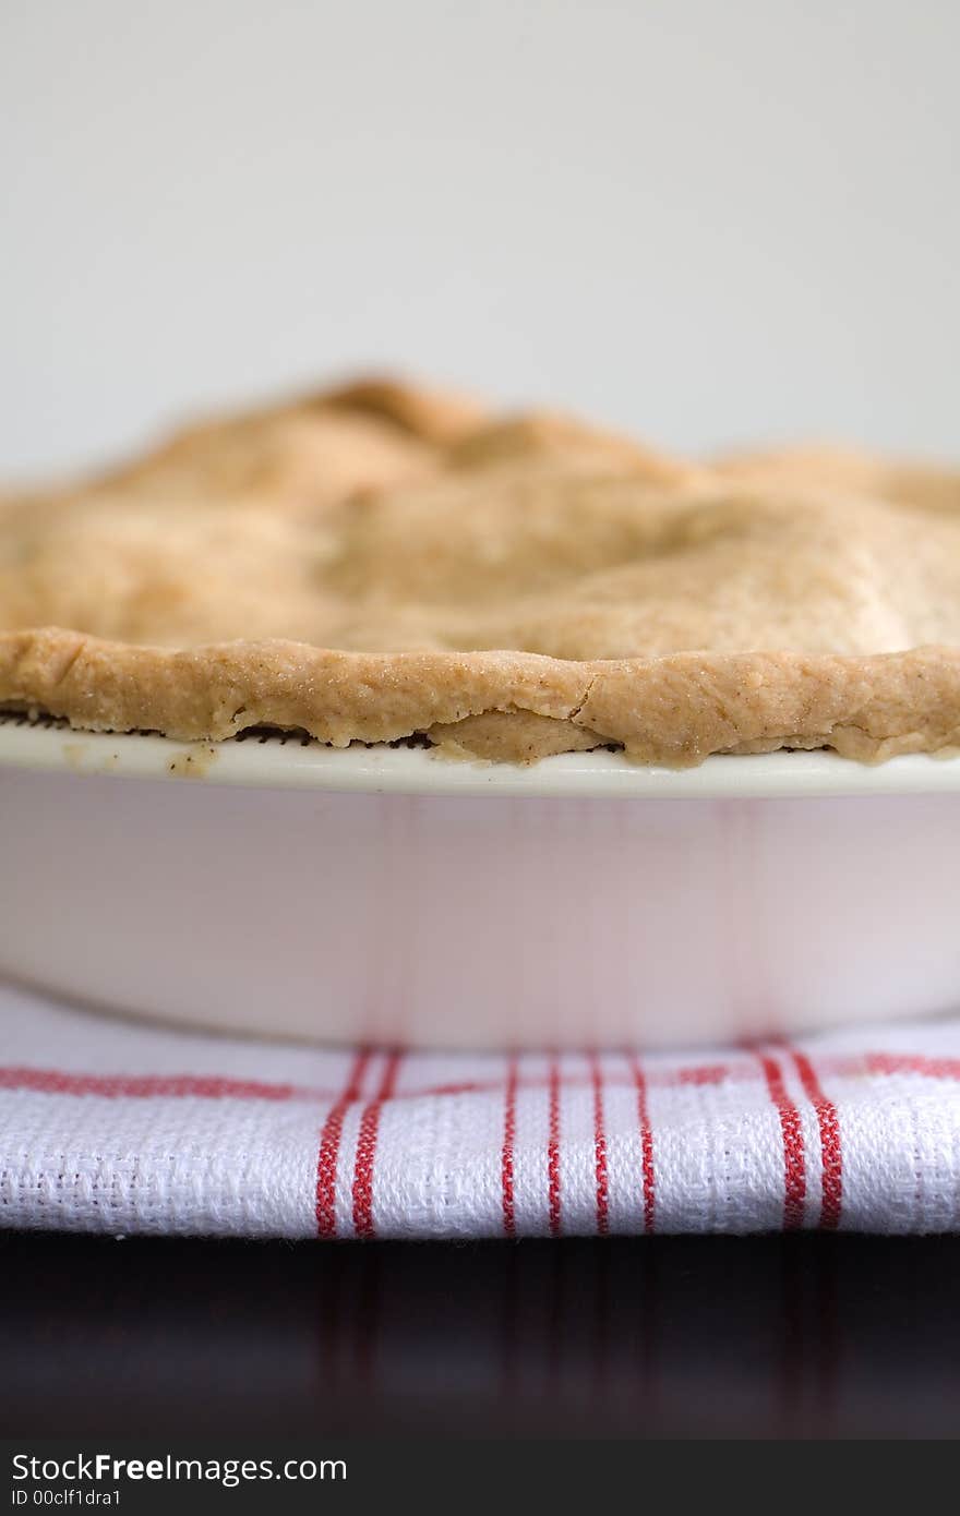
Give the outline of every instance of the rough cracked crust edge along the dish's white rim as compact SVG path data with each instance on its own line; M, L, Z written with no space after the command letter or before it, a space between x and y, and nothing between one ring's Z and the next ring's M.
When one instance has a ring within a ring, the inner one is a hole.
M440 749L502 761L607 743L670 766L776 747L877 761L960 746L960 649L564 661L353 653L279 640L164 649L42 628L0 634L0 702L86 731L158 731L182 741L278 726L334 747L426 732Z

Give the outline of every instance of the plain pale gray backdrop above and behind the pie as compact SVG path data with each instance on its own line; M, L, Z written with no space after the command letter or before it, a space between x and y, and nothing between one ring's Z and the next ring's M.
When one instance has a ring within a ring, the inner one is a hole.
M0 468L397 367L960 455L955 0L0 0Z

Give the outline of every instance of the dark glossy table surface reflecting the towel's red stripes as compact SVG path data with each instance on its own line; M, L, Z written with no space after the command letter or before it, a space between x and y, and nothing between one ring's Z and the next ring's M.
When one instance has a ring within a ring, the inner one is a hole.
M955 1436L960 1239L0 1234L26 1436Z

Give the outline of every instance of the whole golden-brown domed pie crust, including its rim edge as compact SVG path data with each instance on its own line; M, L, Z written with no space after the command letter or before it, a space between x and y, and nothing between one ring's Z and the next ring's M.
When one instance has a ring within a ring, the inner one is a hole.
M960 473L364 382L0 499L0 702L526 763L960 744Z

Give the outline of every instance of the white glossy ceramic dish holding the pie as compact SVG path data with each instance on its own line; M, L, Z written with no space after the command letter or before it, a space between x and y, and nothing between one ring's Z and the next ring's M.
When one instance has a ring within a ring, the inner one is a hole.
M960 1005L960 760L531 769L0 716L0 973L322 1040L710 1043Z

